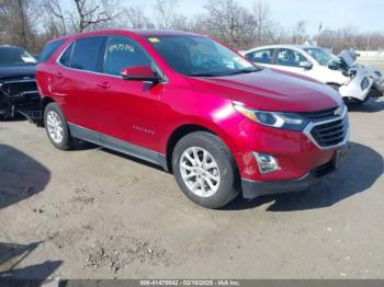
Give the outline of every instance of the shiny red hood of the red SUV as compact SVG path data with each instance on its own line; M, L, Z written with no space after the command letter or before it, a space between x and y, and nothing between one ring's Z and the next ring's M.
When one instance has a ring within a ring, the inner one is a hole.
M268 68L237 76L190 78L190 81L202 92L210 90L263 111L314 112L335 107L342 101L338 92L316 80Z

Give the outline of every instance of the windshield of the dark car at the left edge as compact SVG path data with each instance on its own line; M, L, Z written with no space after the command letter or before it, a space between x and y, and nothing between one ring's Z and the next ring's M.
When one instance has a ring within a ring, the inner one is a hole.
M36 59L22 48L0 47L0 67L36 65Z

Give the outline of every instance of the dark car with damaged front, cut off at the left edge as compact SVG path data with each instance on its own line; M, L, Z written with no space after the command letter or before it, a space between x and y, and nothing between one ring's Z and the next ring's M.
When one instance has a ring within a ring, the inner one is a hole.
M35 82L36 59L25 49L0 45L0 116L35 110L39 95ZM38 108L38 107L37 107Z

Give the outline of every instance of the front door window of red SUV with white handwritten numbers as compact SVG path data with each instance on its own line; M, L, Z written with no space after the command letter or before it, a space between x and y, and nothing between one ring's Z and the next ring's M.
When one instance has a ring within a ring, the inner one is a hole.
M150 65L149 56L134 41L124 36L109 37L105 49L105 73L120 76L123 68Z

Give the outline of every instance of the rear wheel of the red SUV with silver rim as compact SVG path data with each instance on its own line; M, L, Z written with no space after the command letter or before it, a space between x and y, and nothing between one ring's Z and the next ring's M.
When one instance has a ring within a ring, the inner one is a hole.
M69 133L67 120L56 103L49 103L45 107L44 126L52 145L60 150L70 149L74 138Z

